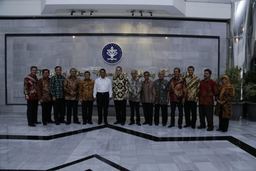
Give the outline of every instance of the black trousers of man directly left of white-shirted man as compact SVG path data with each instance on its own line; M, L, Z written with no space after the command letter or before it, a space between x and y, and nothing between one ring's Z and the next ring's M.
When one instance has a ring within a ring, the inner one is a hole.
M83 122L91 122L93 115L93 101L82 101Z

